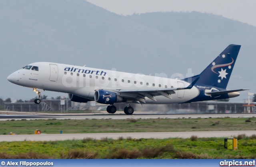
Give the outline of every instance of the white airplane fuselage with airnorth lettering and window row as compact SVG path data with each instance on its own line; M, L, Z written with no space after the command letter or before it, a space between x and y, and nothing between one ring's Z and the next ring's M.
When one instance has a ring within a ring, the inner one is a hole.
M39 67L39 70L20 69L12 73L8 80L20 86L76 94L90 100L94 100L96 89L168 89L186 87L190 84L177 79L58 63L38 62L28 66ZM165 96L156 96L156 101L146 98L146 103L183 103L195 98L200 93L196 86L186 90L175 90L174 92L175 94L171 95L172 99ZM121 94L125 94L125 92Z

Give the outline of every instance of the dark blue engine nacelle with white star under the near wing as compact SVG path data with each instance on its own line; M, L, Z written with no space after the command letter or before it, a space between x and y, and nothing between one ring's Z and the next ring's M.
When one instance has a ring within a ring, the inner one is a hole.
M94 100L101 104L114 104L116 102L124 102L122 96L118 96L115 92L108 90L96 90Z

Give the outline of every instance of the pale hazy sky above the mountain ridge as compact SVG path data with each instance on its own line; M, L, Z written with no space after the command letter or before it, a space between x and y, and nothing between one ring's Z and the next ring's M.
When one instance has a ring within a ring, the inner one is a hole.
M87 0L122 15L197 11L222 15L256 26L256 0Z

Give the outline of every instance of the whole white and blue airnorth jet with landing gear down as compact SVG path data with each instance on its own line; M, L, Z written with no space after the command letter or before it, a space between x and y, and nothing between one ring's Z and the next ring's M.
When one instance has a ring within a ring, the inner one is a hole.
M114 103L126 102L125 114L133 114L131 103L170 104L217 100L239 96L226 90L240 45L229 45L204 71L186 79L168 79L141 74L93 69L74 65L38 62L12 73L11 83L33 88L40 103L43 90L68 93L74 102L110 104L108 113L115 113Z

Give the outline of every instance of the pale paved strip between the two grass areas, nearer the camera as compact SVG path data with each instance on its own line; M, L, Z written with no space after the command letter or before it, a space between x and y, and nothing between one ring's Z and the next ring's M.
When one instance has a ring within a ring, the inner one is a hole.
M256 131L206 131L206 132L144 132L144 133L95 133L95 134L40 134L40 135L0 135L0 141L56 141L56 140L72 140L83 138L112 138L118 139L119 137L133 139L140 138L190 138L192 135L198 138L210 137L226 137L232 138L239 134L246 134L251 136L256 134Z

